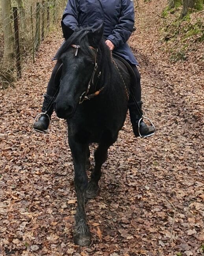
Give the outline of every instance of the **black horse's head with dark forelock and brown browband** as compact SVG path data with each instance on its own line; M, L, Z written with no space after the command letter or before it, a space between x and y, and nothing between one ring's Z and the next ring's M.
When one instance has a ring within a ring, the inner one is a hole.
M80 29L70 33L56 55L63 63L63 70L54 109L57 117L63 119L72 117L80 96L87 91L103 36L103 26L96 30Z

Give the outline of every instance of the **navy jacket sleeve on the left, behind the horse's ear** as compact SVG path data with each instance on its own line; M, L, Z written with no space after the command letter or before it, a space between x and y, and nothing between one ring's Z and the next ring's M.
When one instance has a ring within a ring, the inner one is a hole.
M65 33L64 30L66 30L66 28L74 31L77 30L77 28L79 27L78 15L79 13L78 13L77 1L68 0L67 6L65 8L62 21L61 21L63 33Z

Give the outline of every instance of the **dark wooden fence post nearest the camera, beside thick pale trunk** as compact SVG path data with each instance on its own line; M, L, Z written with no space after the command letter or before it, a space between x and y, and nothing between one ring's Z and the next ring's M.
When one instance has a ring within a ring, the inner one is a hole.
M20 41L19 41L19 20L18 20L18 8L13 7L13 20L14 20L14 34L15 34L15 47L16 47L16 66L17 77L21 78L21 63L20 63Z

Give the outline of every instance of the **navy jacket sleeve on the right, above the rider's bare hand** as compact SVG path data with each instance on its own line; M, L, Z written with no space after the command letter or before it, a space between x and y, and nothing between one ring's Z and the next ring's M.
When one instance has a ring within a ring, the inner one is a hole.
M121 0L121 2L122 11L119 23L115 26L112 34L107 37L115 47L124 45L128 41L135 23L134 2L132 0Z

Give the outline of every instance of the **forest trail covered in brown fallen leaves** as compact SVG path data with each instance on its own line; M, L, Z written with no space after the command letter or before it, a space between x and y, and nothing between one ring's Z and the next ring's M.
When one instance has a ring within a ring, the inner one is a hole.
M48 134L32 130L63 41L59 29L16 88L0 91L0 255L202 255L202 68L168 61L158 43L162 19L155 15L149 26L164 5L149 5L129 43L157 132L135 139L126 120L102 167L100 195L86 206L90 247L72 243L76 196L65 121L54 114Z

